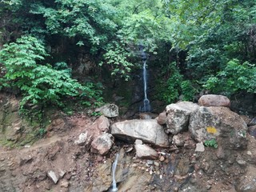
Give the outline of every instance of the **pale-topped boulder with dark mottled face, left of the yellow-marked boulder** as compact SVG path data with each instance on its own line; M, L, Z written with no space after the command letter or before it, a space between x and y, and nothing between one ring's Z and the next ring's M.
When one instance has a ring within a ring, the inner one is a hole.
M190 114L198 109L198 104L193 102L178 102L166 106L166 133L178 134L188 129Z

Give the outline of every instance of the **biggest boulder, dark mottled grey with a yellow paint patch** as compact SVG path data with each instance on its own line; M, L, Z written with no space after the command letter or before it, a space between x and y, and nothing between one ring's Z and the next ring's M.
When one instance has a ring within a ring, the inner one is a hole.
M246 149L246 122L229 108L201 106L190 115L189 130L197 142L216 138L230 150Z

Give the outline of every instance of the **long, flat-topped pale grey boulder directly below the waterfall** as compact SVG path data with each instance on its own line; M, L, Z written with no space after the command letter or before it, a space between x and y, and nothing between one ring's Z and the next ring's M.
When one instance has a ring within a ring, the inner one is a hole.
M143 142L155 146L169 146L168 136L155 119L136 119L125 122L115 122L110 126L111 134L115 138L126 142L141 139Z

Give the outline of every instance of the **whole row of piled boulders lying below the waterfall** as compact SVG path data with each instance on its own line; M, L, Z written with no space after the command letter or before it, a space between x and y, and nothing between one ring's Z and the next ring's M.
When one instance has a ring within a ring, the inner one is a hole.
M215 139L221 150L246 149L248 127L229 106L230 100L225 96L207 94L198 103L170 104L154 119L126 120L110 125L110 119L118 116L118 106L108 104L97 110L102 116L95 120L90 131L79 135L76 143L86 143L91 152L105 155L114 144L114 138L118 138L135 143L138 158L155 159L158 155L152 147L184 146L186 139L182 139L181 133L190 131L198 146L203 147L204 142Z

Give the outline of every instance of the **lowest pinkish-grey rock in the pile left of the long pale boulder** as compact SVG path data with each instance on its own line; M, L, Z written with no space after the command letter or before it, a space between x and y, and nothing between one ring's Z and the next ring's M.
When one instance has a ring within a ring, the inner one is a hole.
M98 154L107 154L110 150L111 146L114 143L114 138L111 134L102 134L95 138L94 141L91 143L91 152L98 153Z

